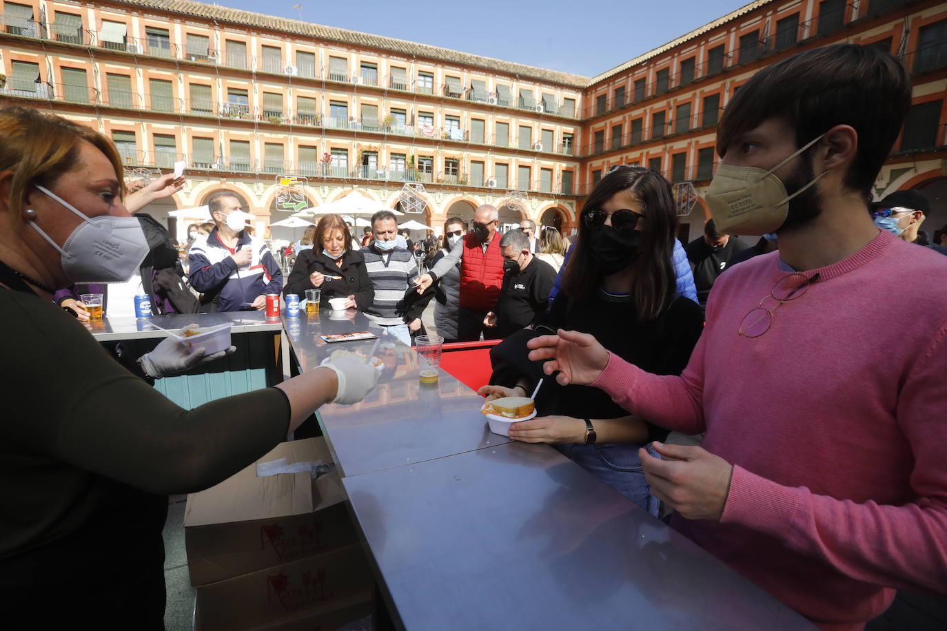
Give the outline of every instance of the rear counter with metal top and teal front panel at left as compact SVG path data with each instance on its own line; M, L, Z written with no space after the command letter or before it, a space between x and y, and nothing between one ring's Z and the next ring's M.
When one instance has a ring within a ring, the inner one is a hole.
M165 377L154 382L154 388L182 408L190 410L207 401L242 394L272 386L283 379L282 365L287 364L288 345L284 340L282 323L267 320L262 311L235 311L229 313L183 313L153 316L152 318L110 318L108 314L98 323L85 323L93 337L102 343L123 342L136 357L152 350L165 338L164 331L152 326L179 329L188 324L202 327L233 323L230 329L237 351L223 359L198 366L193 370Z

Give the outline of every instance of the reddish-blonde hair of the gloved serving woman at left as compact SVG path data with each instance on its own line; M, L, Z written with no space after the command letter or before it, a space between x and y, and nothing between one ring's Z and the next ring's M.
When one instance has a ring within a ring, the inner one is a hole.
M124 191L121 158L107 137L62 116L22 106L0 107L0 171L13 171L8 202L12 227L21 219L28 187L51 187L76 167L83 140L105 154L116 169L118 190Z

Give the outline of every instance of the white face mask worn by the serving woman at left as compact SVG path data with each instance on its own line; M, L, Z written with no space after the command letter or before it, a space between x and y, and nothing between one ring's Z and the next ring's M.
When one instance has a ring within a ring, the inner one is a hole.
M148 241L134 217L101 215L89 219L63 198L36 186L82 218L60 247L49 235L29 220L29 225L62 254L63 273L74 283L124 283L141 267L148 255Z

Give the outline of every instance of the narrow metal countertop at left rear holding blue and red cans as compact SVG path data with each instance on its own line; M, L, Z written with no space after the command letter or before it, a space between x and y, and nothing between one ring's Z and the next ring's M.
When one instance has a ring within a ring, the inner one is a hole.
M147 340L163 338L165 332L151 323L169 329L178 329L188 324L200 324L202 327L216 326L232 322L231 333L249 333L253 331L278 331L282 323L267 320L263 311L232 311L226 313L174 313L152 316L151 318L110 318L105 315L101 322L84 323L98 342L116 342L120 340Z

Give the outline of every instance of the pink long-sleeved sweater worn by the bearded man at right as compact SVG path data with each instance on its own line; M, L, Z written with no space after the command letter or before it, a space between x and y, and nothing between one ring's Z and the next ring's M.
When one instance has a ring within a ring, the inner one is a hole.
M891 587L947 593L947 257L883 231L738 336L778 262L718 279L683 375L612 355L594 385L733 464L721 521L675 528L823 629L860 629Z

